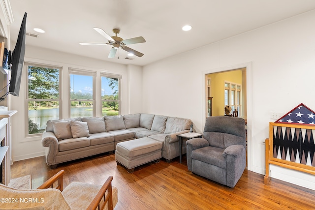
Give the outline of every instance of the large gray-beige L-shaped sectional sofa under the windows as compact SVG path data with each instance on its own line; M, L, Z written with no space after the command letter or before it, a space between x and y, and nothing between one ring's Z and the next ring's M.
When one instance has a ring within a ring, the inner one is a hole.
M47 121L42 135L46 163L58 163L115 151L119 142L149 137L162 142L162 157L179 156L178 134L189 132L191 120L153 114L129 114ZM186 153L186 144L182 144Z

